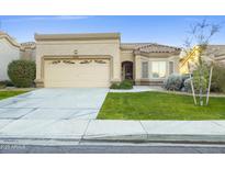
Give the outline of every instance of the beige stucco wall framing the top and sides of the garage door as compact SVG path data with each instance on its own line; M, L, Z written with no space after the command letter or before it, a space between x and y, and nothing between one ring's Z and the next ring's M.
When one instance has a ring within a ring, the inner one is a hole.
M52 55L55 57L72 56L77 50L78 56L110 55L111 81L121 81L120 40L89 40L89 41L37 41L36 42L36 81L43 81L42 57Z

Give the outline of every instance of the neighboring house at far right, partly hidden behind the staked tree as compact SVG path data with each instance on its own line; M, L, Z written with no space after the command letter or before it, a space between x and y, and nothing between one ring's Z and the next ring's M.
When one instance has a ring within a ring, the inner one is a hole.
M204 55L205 61L225 64L225 45L209 45ZM180 59L180 74L191 72L199 61L199 48L195 46L188 55Z

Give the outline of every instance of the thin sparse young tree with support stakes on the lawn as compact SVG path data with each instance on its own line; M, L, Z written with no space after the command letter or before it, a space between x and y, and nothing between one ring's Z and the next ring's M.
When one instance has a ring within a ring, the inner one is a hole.
M200 105L202 106L204 104L203 101L203 86L204 86L204 67L205 67L205 61L204 61L204 56L209 56L207 54L207 47L210 44L210 41L212 37L218 33L221 30L221 24L214 24L214 23L209 23L206 20L203 20L202 22L198 22L195 24L190 25L190 31L189 37L184 42L184 52L188 54L192 49L198 50L198 71L199 71L199 97L200 97ZM210 50L212 53L212 50ZM207 87L207 99L206 99L206 104L209 103L209 98L210 98L210 88L211 88L211 78L212 78L212 72L213 72L213 65L211 65L211 70L210 70L210 82ZM192 91L194 93L194 91ZM195 98L194 98L195 99Z

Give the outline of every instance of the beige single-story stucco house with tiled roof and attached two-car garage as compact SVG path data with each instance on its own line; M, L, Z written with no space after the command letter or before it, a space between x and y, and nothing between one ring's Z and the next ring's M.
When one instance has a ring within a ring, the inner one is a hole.
M180 48L121 43L119 33L35 34L37 87L157 84L179 72Z

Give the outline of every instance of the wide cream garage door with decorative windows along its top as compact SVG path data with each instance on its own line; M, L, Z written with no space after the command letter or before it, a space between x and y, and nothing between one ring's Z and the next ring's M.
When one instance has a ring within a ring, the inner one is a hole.
M45 87L109 87L109 59L54 59L45 60Z

